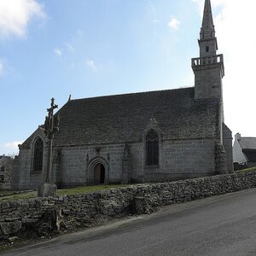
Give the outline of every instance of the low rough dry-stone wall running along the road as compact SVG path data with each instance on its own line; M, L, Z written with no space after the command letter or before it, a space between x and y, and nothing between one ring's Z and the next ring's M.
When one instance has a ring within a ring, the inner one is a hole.
M0 204L0 238L19 236L31 229L40 233L42 226L44 230L50 229L52 225L45 226L43 219L52 222L49 216L52 212L55 212L55 224L61 219L59 223L65 223L68 229L73 224L90 226L127 214L149 213L157 207L254 187L256 172L247 172L171 183L137 184L87 195L5 201Z

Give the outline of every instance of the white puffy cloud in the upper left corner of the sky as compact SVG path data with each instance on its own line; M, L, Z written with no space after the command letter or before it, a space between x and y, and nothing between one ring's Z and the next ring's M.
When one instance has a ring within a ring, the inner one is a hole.
M0 0L0 38L24 37L29 21L45 16L37 0Z

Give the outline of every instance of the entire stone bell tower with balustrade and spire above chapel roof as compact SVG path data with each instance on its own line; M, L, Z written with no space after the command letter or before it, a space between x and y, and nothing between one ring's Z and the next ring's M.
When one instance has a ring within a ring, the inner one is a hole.
M224 61L223 55L217 55L218 44L210 0L205 1L198 44L200 57L192 59L192 68L195 73L195 99L218 97L222 102Z

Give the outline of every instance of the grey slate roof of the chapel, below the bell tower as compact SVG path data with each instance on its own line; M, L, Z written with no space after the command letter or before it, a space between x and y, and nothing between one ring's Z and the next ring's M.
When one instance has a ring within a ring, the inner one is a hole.
M194 87L71 100L60 110L55 146L142 141L152 117L163 138L216 137L218 99L194 100Z

